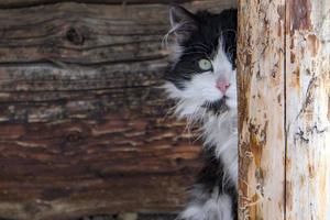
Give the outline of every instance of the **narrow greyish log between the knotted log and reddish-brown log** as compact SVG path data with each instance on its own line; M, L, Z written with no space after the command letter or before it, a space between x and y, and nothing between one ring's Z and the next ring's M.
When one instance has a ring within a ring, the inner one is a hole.
M160 79L165 69L166 59L100 65L98 67L66 66L62 68L45 64L0 66L0 100L41 101L55 95L57 99L67 97L65 91L82 92L102 89L111 89L113 96L121 96L120 89L123 88L160 86ZM43 92L42 96L29 94L36 91ZM48 92L44 94L45 91ZM56 94L54 94L55 91ZM158 90L154 89L153 91L157 92ZM76 94L70 96L76 96Z

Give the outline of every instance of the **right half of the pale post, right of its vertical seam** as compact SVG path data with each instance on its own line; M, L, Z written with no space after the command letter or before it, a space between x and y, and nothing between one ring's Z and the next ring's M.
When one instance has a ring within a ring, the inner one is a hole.
M330 0L287 0L286 216L330 219Z

